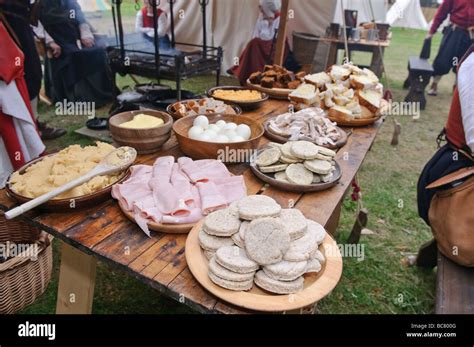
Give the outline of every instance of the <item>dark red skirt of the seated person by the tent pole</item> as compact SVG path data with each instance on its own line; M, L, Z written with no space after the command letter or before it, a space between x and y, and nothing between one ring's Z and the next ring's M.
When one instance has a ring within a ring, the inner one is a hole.
M276 43L275 45L276 46ZM240 82L241 85L245 85L249 76L256 71L263 71L266 64L272 64L275 57L275 47L272 50L272 41L264 41L259 38L254 38L247 44L244 51L242 52L239 65L232 67L231 72ZM285 46L284 59L288 56L290 47L288 42ZM271 55L271 59L268 59Z

